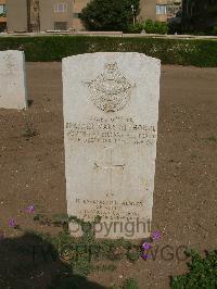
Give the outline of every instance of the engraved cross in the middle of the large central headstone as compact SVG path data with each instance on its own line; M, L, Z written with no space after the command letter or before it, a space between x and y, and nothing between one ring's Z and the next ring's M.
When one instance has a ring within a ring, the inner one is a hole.
M104 163L105 165L103 166L95 162L94 168L100 168L106 172L106 197L113 197L113 173L123 172L125 168L125 164L113 163L113 148L105 149Z

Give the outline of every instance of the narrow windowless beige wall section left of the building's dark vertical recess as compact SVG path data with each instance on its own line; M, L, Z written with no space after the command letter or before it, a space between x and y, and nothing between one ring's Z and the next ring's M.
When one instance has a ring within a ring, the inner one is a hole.
M26 0L7 0L8 32L27 32Z

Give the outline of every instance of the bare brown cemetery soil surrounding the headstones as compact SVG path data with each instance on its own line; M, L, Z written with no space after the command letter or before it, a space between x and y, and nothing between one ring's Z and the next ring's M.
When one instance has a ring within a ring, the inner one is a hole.
M61 228L50 219L66 213L61 63L27 63L26 70L29 109L0 110L0 288L46 289L51 282L61 288L58 281L69 274L66 259L46 261L38 252L34 261L33 254L33 246L41 243L36 231L56 234ZM187 272L186 247L216 249L216 79L217 68L162 67L152 223L162 234L153 243L156 256L99 261L101 271L88 280L74 275L75 288L108 288L128 277L142 289L169 288L169 276ZM26 211L29 205L35 212ZM18 226L9 226L11 218ZM116 268L103 272L103 264Z

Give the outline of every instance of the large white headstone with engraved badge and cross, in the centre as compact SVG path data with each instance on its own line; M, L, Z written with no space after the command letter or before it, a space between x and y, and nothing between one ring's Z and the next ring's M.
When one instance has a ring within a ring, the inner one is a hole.
M161 61L140 53L63 60L67 213L101 216L97 238L150 236L159 75Z

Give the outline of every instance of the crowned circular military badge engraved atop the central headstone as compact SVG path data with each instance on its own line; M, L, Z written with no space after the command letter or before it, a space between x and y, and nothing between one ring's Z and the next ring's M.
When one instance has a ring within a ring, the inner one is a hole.
M86 81L91 101L104 112L116 112L125 108L136 85L127 79L116 62L105 63L104 71L94 79Z

